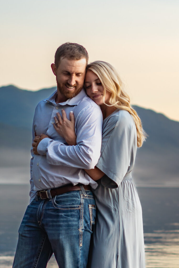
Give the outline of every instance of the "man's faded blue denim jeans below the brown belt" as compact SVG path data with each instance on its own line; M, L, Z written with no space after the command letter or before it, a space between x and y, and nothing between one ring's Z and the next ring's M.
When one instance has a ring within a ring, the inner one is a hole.
M93 193L84 188L34 199L19 228L13 268L45 268L52 253L60 268L85 268L95 217Z

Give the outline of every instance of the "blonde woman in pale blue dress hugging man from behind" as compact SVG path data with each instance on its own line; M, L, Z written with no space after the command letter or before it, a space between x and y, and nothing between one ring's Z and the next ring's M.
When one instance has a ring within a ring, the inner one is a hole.
M93 180L98 180L94 191L98 212L90 267L144 268L142 210L131 171L137 146L142 146L145 133L120 77L110 64L103 61L89 64L85 88L103 114L101 156L94 169L85 170ZM58 119L61 121L59 113ZM71 122L54 127L68 142L70 135L68 144L75 145Z

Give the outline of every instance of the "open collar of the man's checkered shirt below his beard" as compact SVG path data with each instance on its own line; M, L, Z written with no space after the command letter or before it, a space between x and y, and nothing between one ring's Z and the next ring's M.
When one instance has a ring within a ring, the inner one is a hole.
M52 93L52 95L50 95L49 98L44 99L43 101L45 102L51 102L53 105L57 105L55 102L55 98L57 96L57 90L55 92ZM60 105L78 105L81 100L86 96L86 91L82 88L82 90L78 93L78 95L76 95L75 97L71 98L71 99L67 99L67 101L65 102L60 102Z

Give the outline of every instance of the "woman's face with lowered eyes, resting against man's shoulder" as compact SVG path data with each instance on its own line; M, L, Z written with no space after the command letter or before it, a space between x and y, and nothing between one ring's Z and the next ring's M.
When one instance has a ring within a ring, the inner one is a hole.
M86 93L87 95L94 101L96 102L97 105L102 105L103 104L103 86L101 84L101 81L99 77L93 73L93 71L88 70L86 72L85 76L85 88L86 88ZM106 92L105 96L105 103L109 99L109 92Z

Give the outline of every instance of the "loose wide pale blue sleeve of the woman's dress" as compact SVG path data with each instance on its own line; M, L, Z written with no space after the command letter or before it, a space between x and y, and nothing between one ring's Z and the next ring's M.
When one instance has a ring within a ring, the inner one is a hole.
M105 173L101 183L107 188L117 188L125 176L131 157L131 144L134 136L134 122L129 115L127 118L119 112L113 128L102 139L101 156L97 168Z

